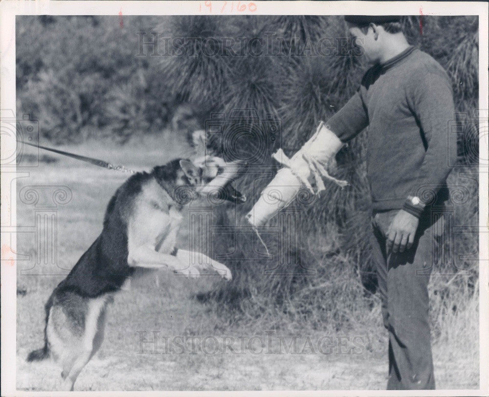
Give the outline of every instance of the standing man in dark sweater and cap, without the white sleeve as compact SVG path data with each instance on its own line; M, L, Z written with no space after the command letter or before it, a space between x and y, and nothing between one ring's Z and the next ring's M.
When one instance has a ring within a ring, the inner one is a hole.
M368 126L367 177L373 249L389 332L388 389L434 389L428 281L436 221L456 159L448 131L453 95L445 70L410 46L400 17L347 16L350 33L374 65L326 126L341 142Z

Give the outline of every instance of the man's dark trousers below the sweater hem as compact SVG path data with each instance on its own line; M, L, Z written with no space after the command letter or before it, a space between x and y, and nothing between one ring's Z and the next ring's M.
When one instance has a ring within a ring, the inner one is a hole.
M432 241L440 235L443 217L420 220L413 246L403 253L386 253L386 233L399 210L373 215L373 256L377 266L382 316L389 331L388 390L435 389L428 324L428 281Z

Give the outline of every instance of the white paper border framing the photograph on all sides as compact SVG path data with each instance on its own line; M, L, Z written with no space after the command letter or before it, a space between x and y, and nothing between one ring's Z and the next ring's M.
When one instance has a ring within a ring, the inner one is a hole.
M248 3L249 1L244 1ZM0 109L16 109L16 15L478 15L479 16L479 108L480 118L487 123L489 113L488 79L488 26L487 2L470 1L252 1L255 11L230 12L224 1L214 1L214 11L209 13L204 1L57 1L57 0L4 0L0 2ZM480 125L488 131L487 125ZM13 153L16 142L8 137L1 139L1 153ZM488 159L488 142L480 142L480 158ZM2 156L3 158L3 156ZM15 169L1 170L1 219L11 219L16 225L15 184L10 181ZM233 393L237 396L287 395L287 396L487 396L489 394L489 171L480 166L479 194L479 309L480 309L480 381L479 390L422 390L422 391L290 391L290 392L73 392L75 395L101 396L220 396ZM486 210L484 210L486 208ZM8 217L8 218L7 218ZM4 245L16 251L15 238ZM3 249L3 248L2 248ZM2 396L66 396L64 392L16 391L16 258L1 261L1 394Z

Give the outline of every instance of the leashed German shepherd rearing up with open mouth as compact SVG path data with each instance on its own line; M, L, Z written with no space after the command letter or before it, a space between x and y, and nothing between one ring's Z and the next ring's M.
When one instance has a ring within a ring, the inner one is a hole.
M60 363L64 390L73 390L100 348L107 305L136 267L170 268L190 277L209 268L231 279L226 266L203 254L196 255L201 263L190 265L190 252L176 247L183 205L201 196L201 188L210 183L204 168L177 159L126 180L107 206L102 233L51 293L45 305L44 346L27 361L52 357ZM230 179L218 193L231 202L245 200Z

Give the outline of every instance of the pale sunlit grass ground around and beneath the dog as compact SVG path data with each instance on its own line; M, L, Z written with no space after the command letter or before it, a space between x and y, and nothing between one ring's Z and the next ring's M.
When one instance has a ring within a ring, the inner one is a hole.
M134 140L124 147L87 142L66 149L137 170L188 151L183 142L168 143L162 137ZM36 241L32 233L18 235L19 252L31 256L18 261L17 387L22 390L58 387L59 368L49 361L26 363L25 357L42 345L44 302L100 232L105 206L127 177L65 157L53 158L59 160L42 162L28 177L18 179L17 186L18 194L27 185L36 185L40 194L37 207L18 200L17 223L22 226L34 224L36 210L47 211L55 186L67 186L72 193L71 200L56 209L57 266L36 264L36 246L45 249L44 237ZM183 245L187 235L183 227ZM368 325L359 321L358 329L346 335L311 331L307 326L268 335L267 324L230 325L212 305L193 299L196 292L210 290L219 282L223 281L210 276L187 280L172 273L135 280L111 305L104 344L79 376L75 390L385 388L387 334L380 321ZM477 324L477 308L473 309L457 321ZM438 388L478 387L477 328L474 331L474 335L460 334L448 344L445 339L434 345ZM157 346L151 342L155 335ZM288 346L292 347L287 353Z

